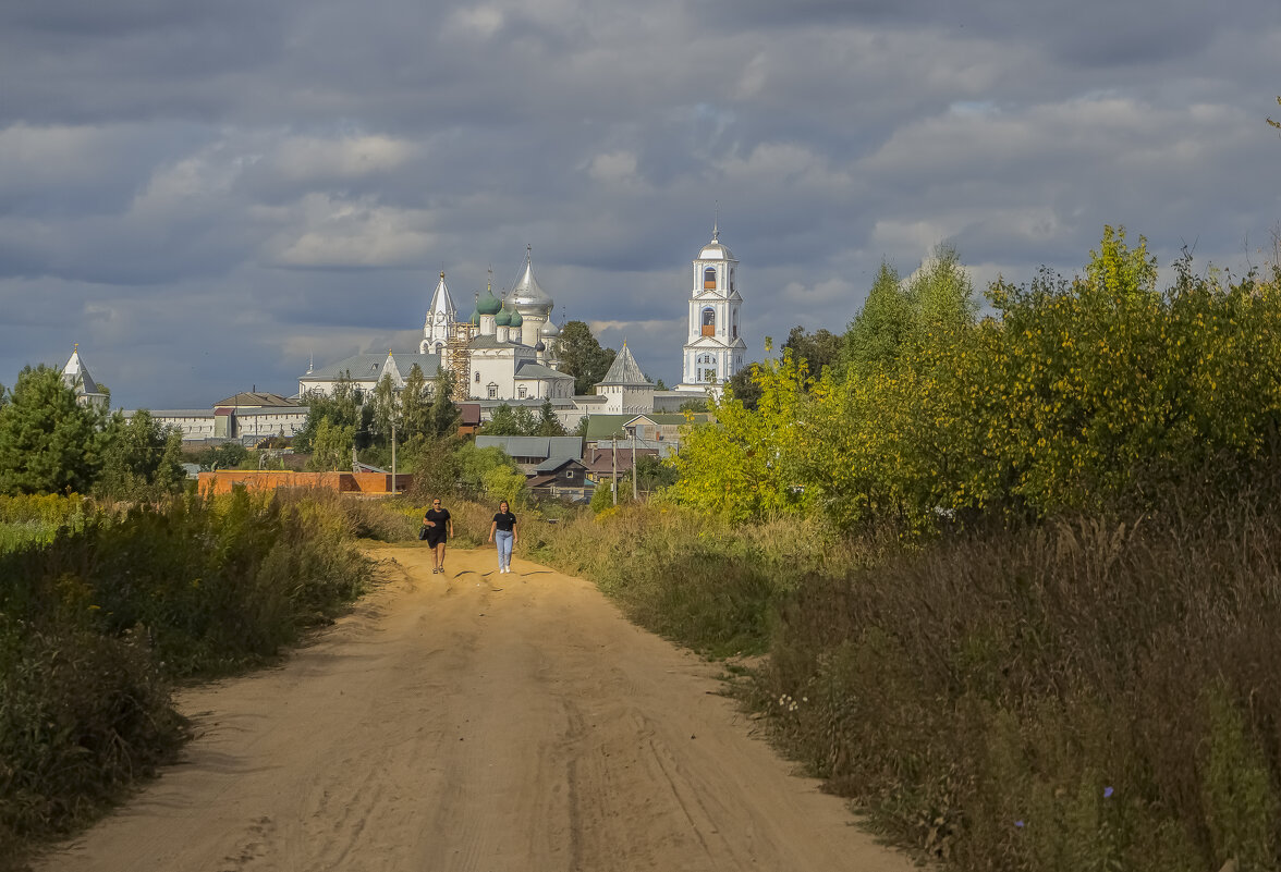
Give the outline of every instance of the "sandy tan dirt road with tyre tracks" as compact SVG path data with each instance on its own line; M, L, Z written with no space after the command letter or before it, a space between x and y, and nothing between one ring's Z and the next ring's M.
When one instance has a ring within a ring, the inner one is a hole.
M184 693L183 762L38 868L913 868L587 583L379 553L391 583L284 666Z

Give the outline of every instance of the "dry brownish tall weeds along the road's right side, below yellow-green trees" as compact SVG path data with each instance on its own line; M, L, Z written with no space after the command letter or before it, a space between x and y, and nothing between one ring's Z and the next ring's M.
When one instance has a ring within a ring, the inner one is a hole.
M807 576L748 697L956 868L1276 869L1278 620L1275 513L1065 520Z

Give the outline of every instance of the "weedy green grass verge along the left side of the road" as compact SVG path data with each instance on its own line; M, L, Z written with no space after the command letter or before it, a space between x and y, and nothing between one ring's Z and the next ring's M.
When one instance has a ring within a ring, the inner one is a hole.
M174 681L261 663L365 590L352 540L370 517L320 493L238 492L82 512L0 552L0 869L172 757Z

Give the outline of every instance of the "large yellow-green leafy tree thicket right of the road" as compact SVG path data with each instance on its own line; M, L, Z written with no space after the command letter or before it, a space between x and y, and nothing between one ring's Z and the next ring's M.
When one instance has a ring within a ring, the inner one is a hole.
M673 493L735 519L821 513L924 530L1047 515L1281 460L1281 283L1176 264L1157 287L1140 237L1106 228L1072 279L994 282L977 305L954 251L907 282L883 268L845 334L848 374L792 348L683 439Z

